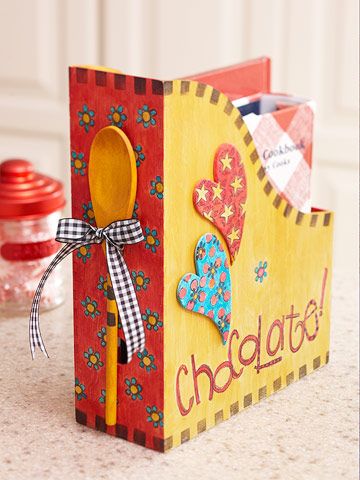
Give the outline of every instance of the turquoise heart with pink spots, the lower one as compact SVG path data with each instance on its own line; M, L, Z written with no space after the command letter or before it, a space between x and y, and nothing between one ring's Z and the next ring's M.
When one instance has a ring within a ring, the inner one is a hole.
M231 278L226 253L212 233L200 237L195 247L196 274L185 274L177 288L181 306L209 317L225 345L231 320Z

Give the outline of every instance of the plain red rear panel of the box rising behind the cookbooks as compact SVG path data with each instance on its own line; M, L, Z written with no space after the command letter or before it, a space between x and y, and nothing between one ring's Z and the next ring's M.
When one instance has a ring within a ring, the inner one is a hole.
M261 57L187 79L211 85L225 93L230 100L235 100L259 92L270 92L270 67L270 58Z

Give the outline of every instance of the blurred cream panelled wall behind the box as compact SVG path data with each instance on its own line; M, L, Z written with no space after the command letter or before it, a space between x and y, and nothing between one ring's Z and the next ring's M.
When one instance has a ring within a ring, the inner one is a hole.
M261 55L274 91L318 103L314 205L337 213L336 266L356 265L357 0L0 0L0 160L69 191L69 64L176 78Z

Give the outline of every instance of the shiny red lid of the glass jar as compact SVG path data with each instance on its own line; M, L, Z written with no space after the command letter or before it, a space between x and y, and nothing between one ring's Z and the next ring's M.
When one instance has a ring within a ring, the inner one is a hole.
M27 160L0 164L0 219L44 217L65 205L61 182L34 172Z

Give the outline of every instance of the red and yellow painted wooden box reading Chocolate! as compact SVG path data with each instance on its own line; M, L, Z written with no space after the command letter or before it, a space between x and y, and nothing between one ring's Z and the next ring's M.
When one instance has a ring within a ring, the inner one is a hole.
M238 73L219 71L227 94ZM143 232L122 251L145 335L131 355L104 248L73 254L77 422L163 452L328 362L333 214L278 194L226 94L71 67L70 118L72 216L105 227L107 195Z

